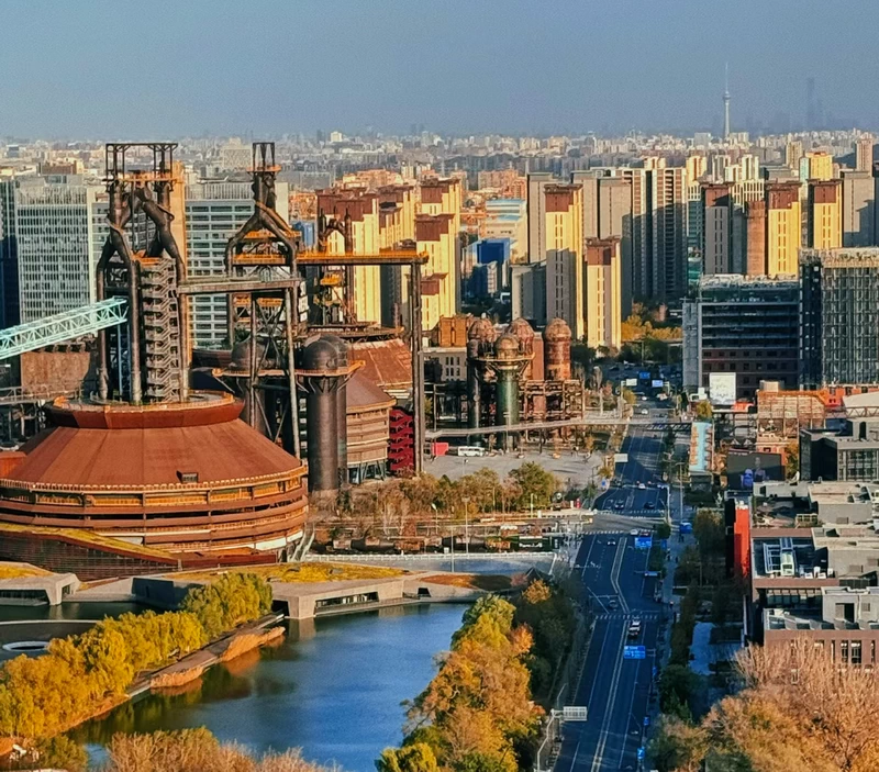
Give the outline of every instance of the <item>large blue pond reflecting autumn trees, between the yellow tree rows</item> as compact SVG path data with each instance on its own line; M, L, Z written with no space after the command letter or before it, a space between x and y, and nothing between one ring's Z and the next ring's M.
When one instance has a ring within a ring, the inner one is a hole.
M96 760L116 731L207 726L255 751L302 747L307 758L367 772L399 743L404 712L460 625L460 605L407 606L297 624L277 646L149 694L71 735Z

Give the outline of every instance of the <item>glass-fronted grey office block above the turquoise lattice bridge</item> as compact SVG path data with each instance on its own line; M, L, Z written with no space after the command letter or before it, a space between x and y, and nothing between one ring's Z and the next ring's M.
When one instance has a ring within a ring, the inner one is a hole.
M15 189L15 247L21 322L71 311L96 300L92 210L96 186L78 178L22 179Z

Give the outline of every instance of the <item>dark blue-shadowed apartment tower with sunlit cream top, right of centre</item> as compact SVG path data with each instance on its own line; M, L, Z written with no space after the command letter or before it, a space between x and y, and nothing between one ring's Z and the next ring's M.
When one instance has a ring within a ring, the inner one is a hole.
M649 297L667 302L687 292L687 170L666 167L648 174L653 194Z

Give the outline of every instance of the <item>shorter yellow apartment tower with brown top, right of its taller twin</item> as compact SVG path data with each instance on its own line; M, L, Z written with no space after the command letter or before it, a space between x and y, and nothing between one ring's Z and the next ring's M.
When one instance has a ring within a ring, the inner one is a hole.
M622 345L620 239L586 239L586 345L617 349Z

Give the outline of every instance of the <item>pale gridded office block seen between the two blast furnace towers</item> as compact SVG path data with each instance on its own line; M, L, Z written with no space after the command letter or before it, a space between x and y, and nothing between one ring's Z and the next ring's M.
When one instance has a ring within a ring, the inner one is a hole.
M287 222L287 183L276 182L275 191L276 211ZM107 205L102 204L102 220L107 216L105 210ZM226 276L226 242L253 213L254 193L249 182L223 179L202 180L186 186L186 255L189 276ZM227 297L199 294L193 295L189 302L193 344L201 348L227 346Z

